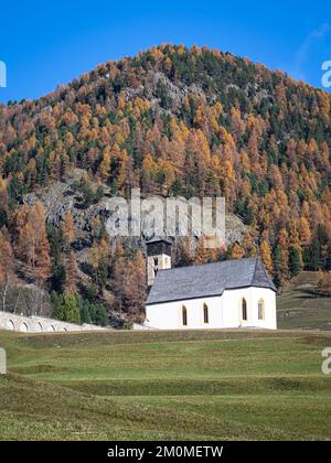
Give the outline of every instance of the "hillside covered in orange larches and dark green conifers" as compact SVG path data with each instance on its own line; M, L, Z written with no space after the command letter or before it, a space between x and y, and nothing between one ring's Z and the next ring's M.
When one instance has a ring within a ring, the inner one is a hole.
M258 247L278 286L303 268L330 270L330 94L209 49L162 45L103 64L39 100L2 105L2 297L14 281L29 281L53 291L60 317L103 323L104 306L141 311L138 247L111 246L96 222L82 267L85 245L71 213L50 226L47 206L25 201L77 170L83 209L131 187L224 195L247 226L244 239L213 255L184 243L178 265L252 256Z

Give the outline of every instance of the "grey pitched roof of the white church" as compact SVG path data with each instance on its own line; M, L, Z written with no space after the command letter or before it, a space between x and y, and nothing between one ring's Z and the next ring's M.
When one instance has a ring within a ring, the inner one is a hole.
M248 287L269 288L276 291L265 266L258 258L159 270L147 305L222 295L224 290Z

